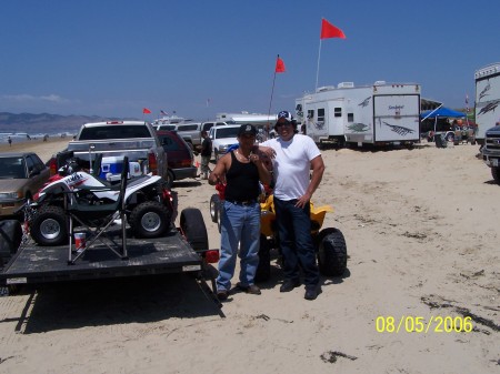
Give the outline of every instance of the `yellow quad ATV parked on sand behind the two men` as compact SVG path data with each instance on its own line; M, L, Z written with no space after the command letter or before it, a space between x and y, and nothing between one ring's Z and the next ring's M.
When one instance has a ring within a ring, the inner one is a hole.
M210 216L217 222L220 232L220 215L223 201L223 186L216 185L219 193L210 198ZM271 250L279 250L273 195L268 190L260 203L260 250L259 267L256 281L269 280L271 275ZM346 239L340 230L334 228L321 229L324 216L332 212L329 205L314 208L311 202L311 235L314 242L318 265L321 274L327 276L340 276L347 269Z

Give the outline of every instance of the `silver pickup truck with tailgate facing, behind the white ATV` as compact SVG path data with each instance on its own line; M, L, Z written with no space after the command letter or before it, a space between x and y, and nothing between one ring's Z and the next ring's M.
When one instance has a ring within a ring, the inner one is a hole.
M94 160L97 153L103 158L139 162L143 173L168 179L167 152L154 129L142 121L109 121L86 123L74 140L68 143L68 152L80 160ZM91 165L90 165L91 166Z

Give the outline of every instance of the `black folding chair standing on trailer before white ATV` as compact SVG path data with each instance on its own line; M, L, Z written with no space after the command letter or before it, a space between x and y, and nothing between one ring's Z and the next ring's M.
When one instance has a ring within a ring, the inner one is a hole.
M69 218L69 255L68 264L74 264L74 262L80 259L86 251L94 246L96 242L103 244L116 255L122 260L127 260L127 233L126 233L126 204L124 204L124 193L127 190L127 175L128 175L128 158L123 158L123 170L121 172L121 181L118 190L118 198L116 201L107 204L89 204L87 201L82 202L77 199L77 193L81 193L82 189L72 191L67 194L66 199L66 212ZM102 192L103 190L116 191L114 186L110 188L86 188L88 192ZM108 229L112 223L120 219L121 220L121 245L118 244L110 235L107 235ZM86 233L88 237L86 243L76 240L73 247L73 236L76 234L74 226L83 226L83 231L77 233Z

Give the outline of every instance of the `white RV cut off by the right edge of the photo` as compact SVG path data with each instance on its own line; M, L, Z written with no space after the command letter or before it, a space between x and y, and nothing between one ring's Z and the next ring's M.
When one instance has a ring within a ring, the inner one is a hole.
M484 144L484 133L500 121L500 63L492 63L474 73L476 79L476 140Z

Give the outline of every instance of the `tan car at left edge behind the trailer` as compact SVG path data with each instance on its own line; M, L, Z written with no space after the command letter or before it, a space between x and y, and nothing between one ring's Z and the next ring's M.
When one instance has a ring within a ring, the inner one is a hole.
M0 218L14 216L49 176L49 168L33 152L0 153Z

